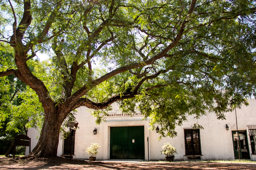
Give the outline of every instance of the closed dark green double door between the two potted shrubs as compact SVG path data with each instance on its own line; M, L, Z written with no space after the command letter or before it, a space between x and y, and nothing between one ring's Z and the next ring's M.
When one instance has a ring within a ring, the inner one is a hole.
M144 126L110 127L110 159L145 159Z

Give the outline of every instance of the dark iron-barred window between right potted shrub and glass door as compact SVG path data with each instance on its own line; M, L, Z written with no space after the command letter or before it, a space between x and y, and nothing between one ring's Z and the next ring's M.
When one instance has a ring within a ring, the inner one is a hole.
M200 131L199 129L184 129L185 154L201 155Z

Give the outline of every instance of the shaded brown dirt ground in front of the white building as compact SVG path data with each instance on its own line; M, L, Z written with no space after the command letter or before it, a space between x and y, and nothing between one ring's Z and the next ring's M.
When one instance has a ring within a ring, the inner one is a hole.
M110 162L70 160L68 158L39 158L26 161L0 157L1 170L256 170L255 163L211 162Z

